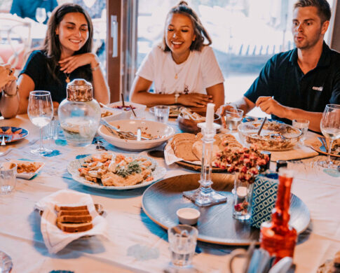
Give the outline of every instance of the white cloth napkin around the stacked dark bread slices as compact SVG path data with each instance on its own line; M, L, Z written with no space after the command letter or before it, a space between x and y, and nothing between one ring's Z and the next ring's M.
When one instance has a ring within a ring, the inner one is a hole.
M86 232L63 232L57 228L56 225L57 211L55 211L55 204L64 206L87 205L88 211L93 218L93 228ZM48 248L48 252L51 254L57 253L70 242L83 236L102 235L109 238L107 234L107 220L97 213L90 195L78 193L74 190L59 190L52 195L43 197L39 202L36 202L34 209L43 211L43 215L41 216L41 233L43 235L43 241Z

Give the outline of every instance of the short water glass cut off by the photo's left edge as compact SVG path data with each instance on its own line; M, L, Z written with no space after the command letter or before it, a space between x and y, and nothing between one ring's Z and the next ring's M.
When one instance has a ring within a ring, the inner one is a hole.
M15 188L17 175L17 165L11 162L5 162L0 167L0 194L7 195Z

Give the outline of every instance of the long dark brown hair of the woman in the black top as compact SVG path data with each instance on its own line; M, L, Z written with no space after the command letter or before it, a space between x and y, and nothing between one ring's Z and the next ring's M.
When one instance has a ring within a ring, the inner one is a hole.
M42 50L45 52L46 57L48 57L48 69L55 76L55 69L60 61L60 56L62 54L62 47L59 41L59 36L55 33L55 30L59 26L60 22L67 13L82 13L86 21L88 22L88 40L83 45L83 47L74 52L74 55L79 55L87 52L91 52L93 45L93 24L90 15L81 6L74 3L64 3L63 5L57 6L50 15L50 19L47 24L46 37L43 41ZM87 74L90 71L87 71ZM91 73L92 76L92 73Z

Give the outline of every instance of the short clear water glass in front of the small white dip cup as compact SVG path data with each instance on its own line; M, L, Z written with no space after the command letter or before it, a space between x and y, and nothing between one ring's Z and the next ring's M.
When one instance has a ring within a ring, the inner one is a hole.
M198 230L191 225L176 225L168 229L172 264L177 267L191 265L195 253Z

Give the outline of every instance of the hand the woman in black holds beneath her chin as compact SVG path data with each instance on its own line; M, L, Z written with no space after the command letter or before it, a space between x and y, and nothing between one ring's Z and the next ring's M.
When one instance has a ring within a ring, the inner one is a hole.
M79 55L73 55L59 61L60 71L64 73L72 73L75 69L86 64L91 64L91 67L95 67L98 64L97 56L93 53L83 53Z

